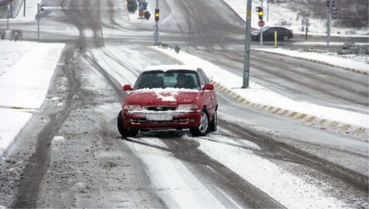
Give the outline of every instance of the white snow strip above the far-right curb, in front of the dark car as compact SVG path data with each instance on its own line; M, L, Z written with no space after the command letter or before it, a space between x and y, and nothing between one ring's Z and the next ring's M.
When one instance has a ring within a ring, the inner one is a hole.
M289 50L289 49L253 49L258 51L264 52L275 52L286 54L289 56L294 57L301 57L306 59L318 60L323 61L332 65L336 65L343 68L354 68L361 71L366 71L369 73L369 64L361 63L358 61L354 61L347 58L337 57L337 56L330 56L327 54L316 53L316 52L298 52L296 50Z

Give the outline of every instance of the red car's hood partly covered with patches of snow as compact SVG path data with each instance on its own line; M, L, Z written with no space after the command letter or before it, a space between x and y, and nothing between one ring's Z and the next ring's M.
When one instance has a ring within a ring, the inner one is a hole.
M201 91L191 89L138 89L132 91L125 100L129 105L168 105L192 102Z

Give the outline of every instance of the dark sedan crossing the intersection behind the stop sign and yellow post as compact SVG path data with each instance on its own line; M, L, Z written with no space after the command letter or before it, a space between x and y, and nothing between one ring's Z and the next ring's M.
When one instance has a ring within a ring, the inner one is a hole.
M277 31L277 40L288 41L293 38L293 31L280 26L263 27L263 41L274 41L274 31ZM251 32L251 39L260 41L260 30Z

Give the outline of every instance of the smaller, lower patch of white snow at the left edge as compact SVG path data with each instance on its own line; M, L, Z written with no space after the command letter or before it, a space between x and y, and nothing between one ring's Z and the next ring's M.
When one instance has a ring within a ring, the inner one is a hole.
M0 108L0 156L11 145L31 117L31 113Z

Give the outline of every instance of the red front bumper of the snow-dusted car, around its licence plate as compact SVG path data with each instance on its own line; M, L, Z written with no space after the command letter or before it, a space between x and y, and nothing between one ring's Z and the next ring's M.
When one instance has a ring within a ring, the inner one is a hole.
M167 120L148 119L148 114L170 116ZM122 118L125 128L129 129L187 129L199 127L202 111L163 111L163 112L123 112Z

